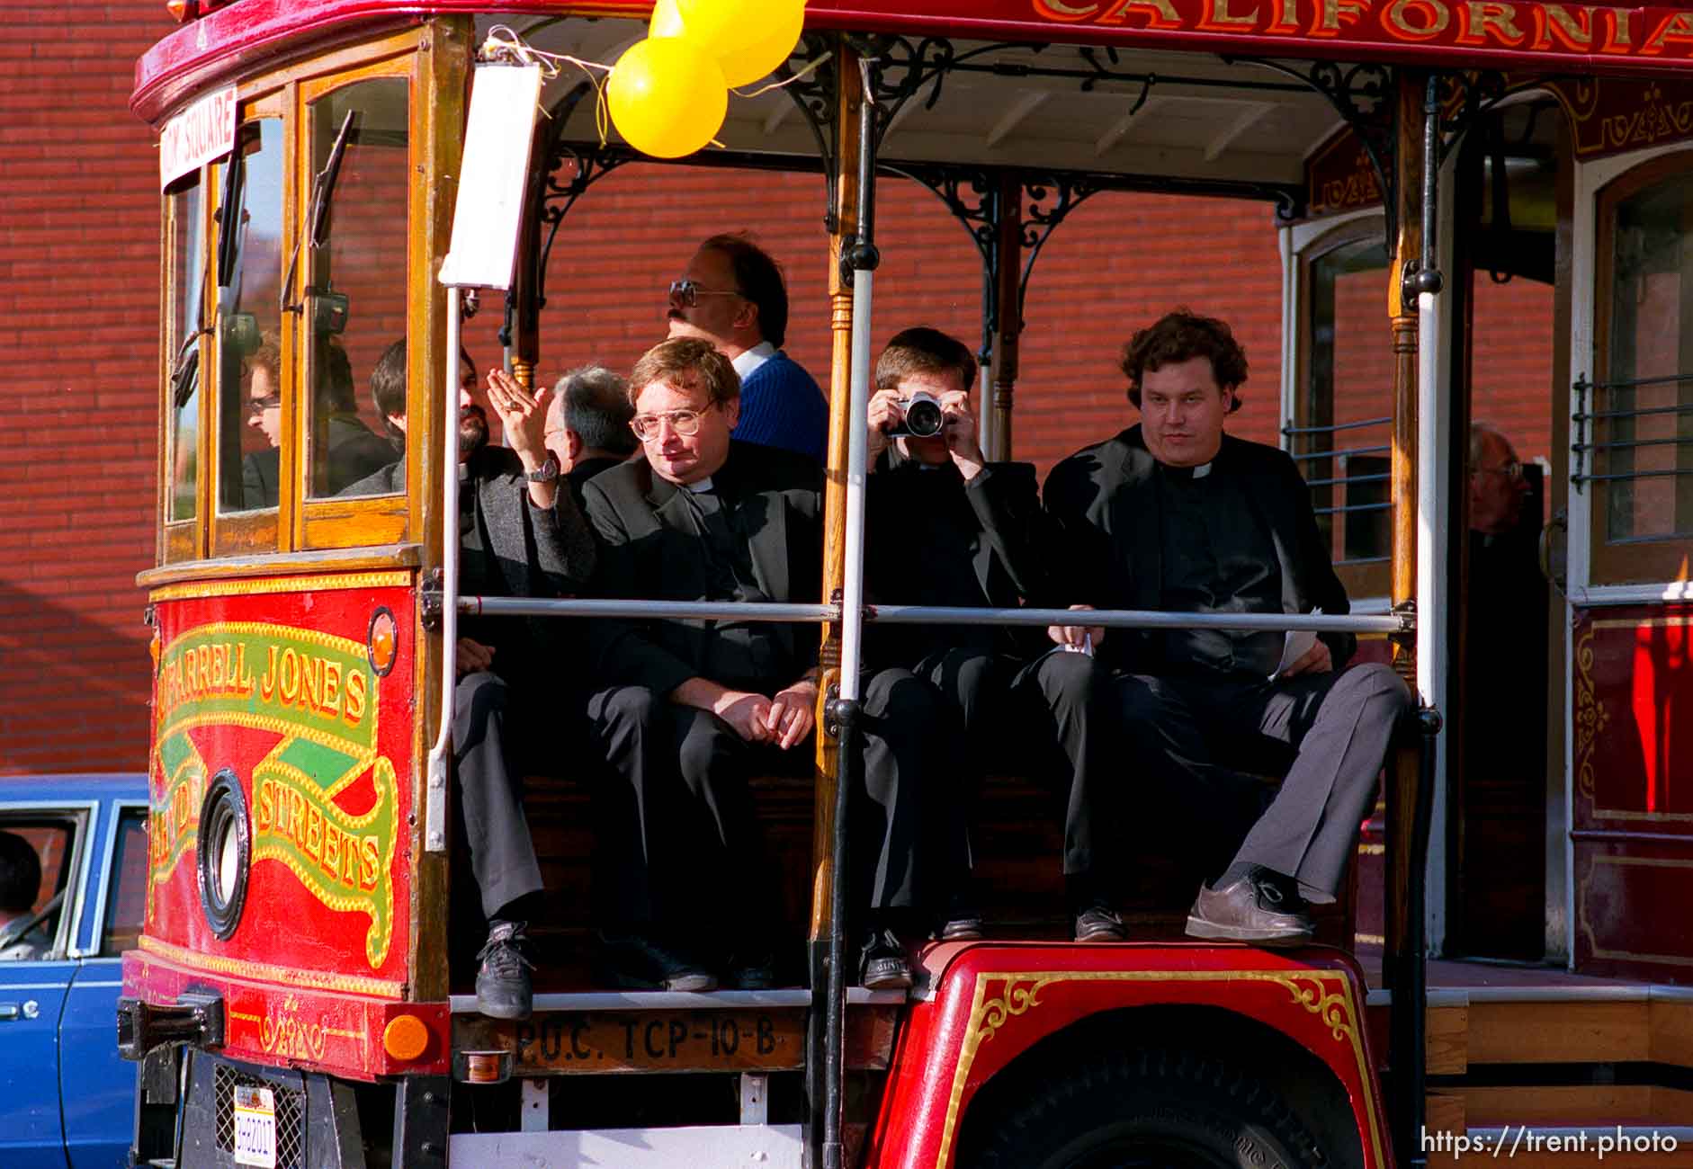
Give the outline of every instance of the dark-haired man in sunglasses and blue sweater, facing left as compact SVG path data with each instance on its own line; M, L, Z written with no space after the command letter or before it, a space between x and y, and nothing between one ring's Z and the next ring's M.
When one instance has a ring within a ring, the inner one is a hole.
M718 347L740 377L735 438L811 455L830 438L830 404L804 365L782 352L787 284L782 266L745 235L713 235L670 283L670 337Z

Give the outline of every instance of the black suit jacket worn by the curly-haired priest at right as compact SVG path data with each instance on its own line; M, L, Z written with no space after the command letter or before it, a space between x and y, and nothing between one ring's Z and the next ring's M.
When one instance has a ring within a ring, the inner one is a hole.
M1212 460L1239 477L1246 497L1275 543L1282 575L1282 611L1334 616L1349 611L1346 589L1334 575L1329 548L1317 530L1310 489L1283 450L1222 436ZM1139 426L1078 450L1046 475L1045 502L1051 518L1050 604L1092 604L1099 609L1158 609L1163 589L1163 550L1158 521L1156 460ZM1326 633L1334 668L1353 656L1358 639ZM1158 634L1112 629L1099 656L1136 673L1161 667Z

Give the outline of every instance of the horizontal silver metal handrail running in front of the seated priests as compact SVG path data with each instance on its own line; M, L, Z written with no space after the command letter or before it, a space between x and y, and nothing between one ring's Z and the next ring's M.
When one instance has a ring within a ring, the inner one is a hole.
M762 601L603 601L547 597L459 597L459 612L503 617L670 617L708 621L840 621L835 604ZM992 609L970 606L870 604L875 624L1106 626L1107 629L1236 629L1253 633L1407 633L1415 617L1371 612L1163 612L1158 609Z

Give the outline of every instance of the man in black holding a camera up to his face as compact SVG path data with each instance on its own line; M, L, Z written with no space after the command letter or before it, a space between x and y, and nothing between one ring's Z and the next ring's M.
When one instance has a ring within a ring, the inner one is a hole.
M897 333L875 364L870 399L869 562L872 599L885 604L1011 609L1040 594L1041 508L1029 464L989 464L970 413L975 357L933 328ZM1111 880L1094 832L1116 743L1111 675L1087 653L1050 651L1017 626L870 626L869 658L909 668L960 716L968 771L979 780L1006 748L1001 727L1036 727L1038 771L1068 790L1063 873L1077 941L1121 941ZM970 936L955 907L941 927Z

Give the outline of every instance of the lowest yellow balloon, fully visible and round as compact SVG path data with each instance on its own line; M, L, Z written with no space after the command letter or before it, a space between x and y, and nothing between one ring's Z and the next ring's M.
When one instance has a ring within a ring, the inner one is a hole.
M618 58L606 105L630 145L677 159L716 135L730 93L723 69L692 37L648 37Z

